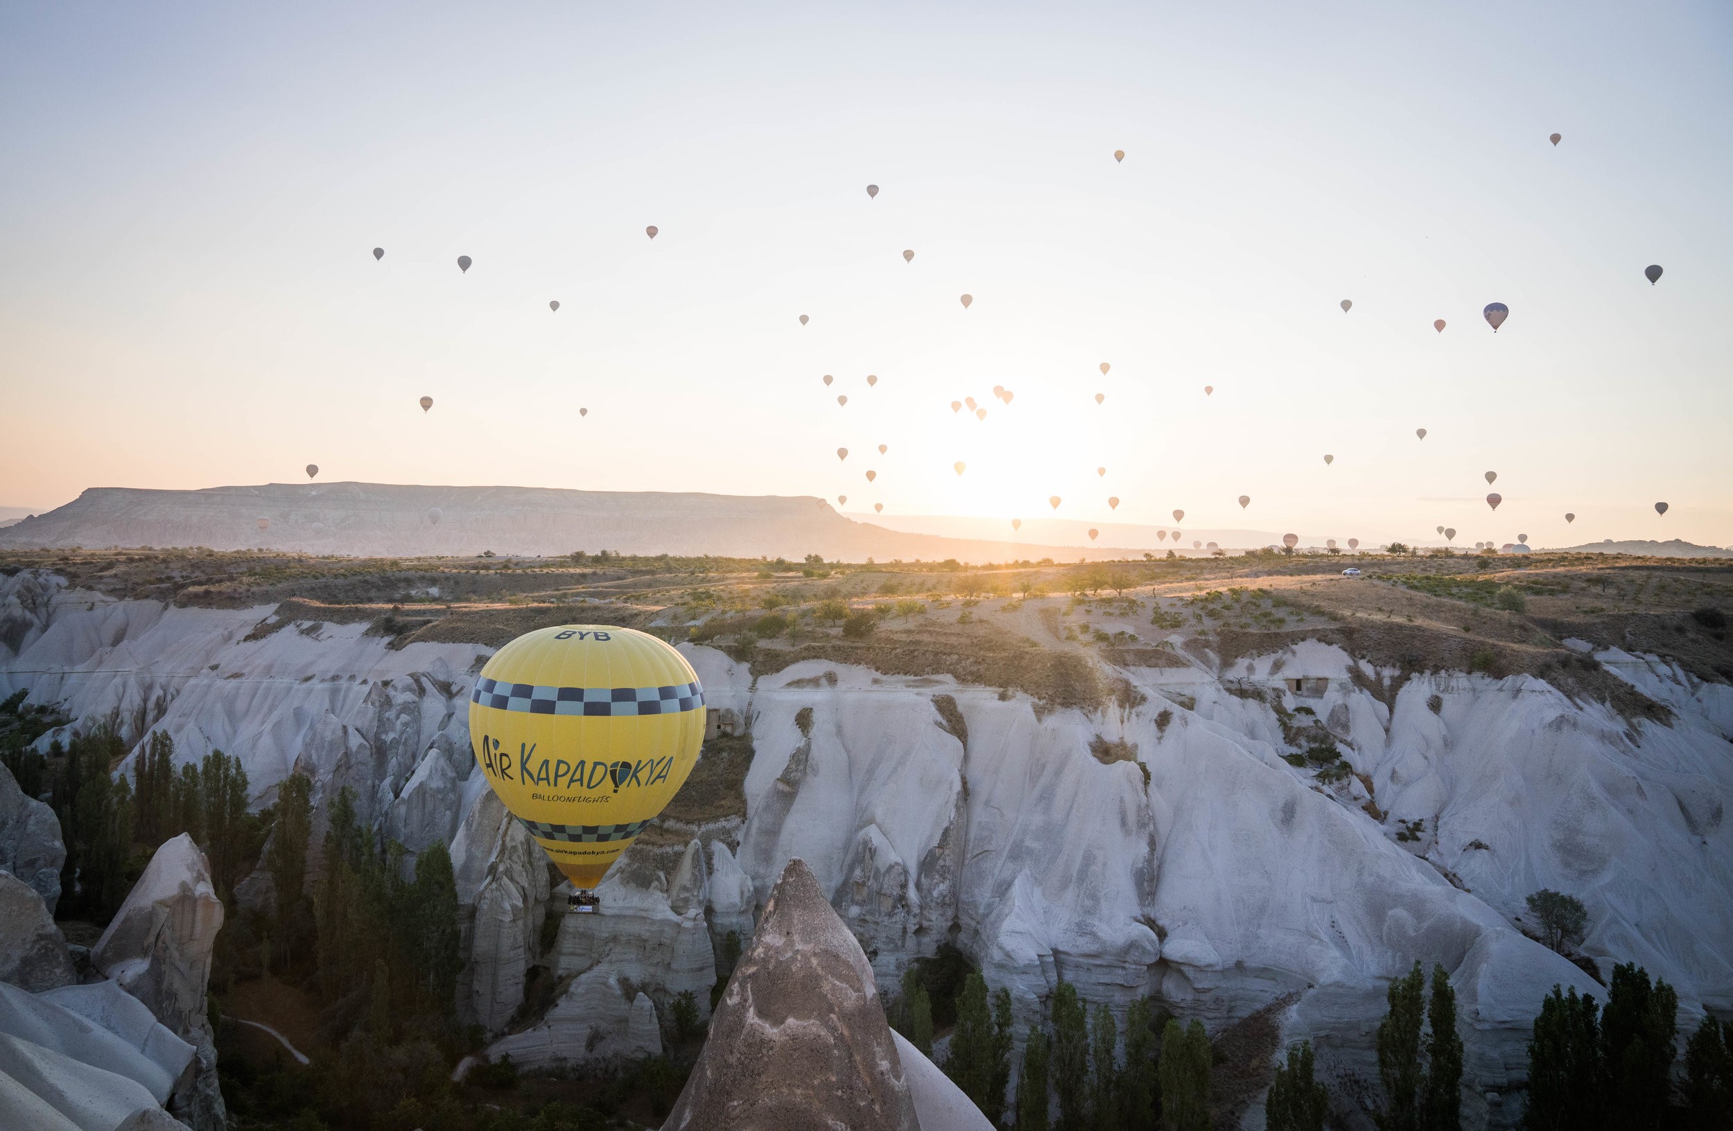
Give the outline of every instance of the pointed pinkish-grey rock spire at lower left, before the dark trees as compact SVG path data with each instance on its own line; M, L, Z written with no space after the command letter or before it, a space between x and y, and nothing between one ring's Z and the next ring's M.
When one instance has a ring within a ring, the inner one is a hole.
M97 970L194 1046L196 1063L170 1098L170 1110L194 1131L218 1131L225 1124L217 1048L204 1017L222 919L210 864L182 833L156 850L90 952Z

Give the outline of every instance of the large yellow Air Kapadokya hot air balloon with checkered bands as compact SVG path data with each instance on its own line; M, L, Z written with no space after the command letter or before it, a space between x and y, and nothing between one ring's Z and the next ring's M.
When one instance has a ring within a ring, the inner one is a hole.
M674 798L704 742L704 689L631 628L556 624L494 652L470 696L487 784L594 911L608 866Z

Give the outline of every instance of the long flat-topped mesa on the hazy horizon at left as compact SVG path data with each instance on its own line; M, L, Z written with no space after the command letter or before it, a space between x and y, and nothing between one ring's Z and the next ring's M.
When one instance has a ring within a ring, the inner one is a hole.
M366 482L201 491L90 487L64 507L0 529L0 548L29 546L262 546L357 557L615 550L799 560L821 553L856 562L990 562L1054 550L1066 557L1140 557L1113 546L1029 546L887 531L846 519L813 496Z

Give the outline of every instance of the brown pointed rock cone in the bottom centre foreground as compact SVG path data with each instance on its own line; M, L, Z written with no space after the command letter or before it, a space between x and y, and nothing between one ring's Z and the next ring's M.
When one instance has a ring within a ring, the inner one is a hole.
M872 964L790 860L664 1131L918 1131Z

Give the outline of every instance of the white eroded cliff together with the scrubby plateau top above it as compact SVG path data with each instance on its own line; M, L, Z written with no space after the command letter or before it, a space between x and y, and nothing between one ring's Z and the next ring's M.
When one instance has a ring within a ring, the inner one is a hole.
M146 566L172 562L125 569ZM620 566L484 578L542 593L527 604L395 609L380 595L437 571L354 576L374 604L336 604L295 593L333 595L331 572L215 555L180 586L215 607L139 595L95 559L17 571L0 697L113 718L135 744L172 734L178 758L236 753L256 803L305 772L315 822L350 786L409 853L451 845L459 1006L520 1065L659 1051L679 996L707 1011L750 952L794 857L884 994L950 944L1012 990L1019 1034L1061 980L1215 1032L1272 1017L1319 1048L1343 1117L1416 959L1456 985L1473 1126L1518 1119L1555 984L1600 997L1634 961L1686 1017L1733 1010L1733 685L1724 628L1693 619L1733 602L1707 566L1423 559L1355 583L1298 559L1126 564L1073 598L1040 595L1071 586L1057 569ZM546 595L565 583L582 595ZM556 918L546 862L468 753L480 663L556 619L683 638L737 730L594 918ZM1589 909L1575 963L1529 937L1541 888Z

